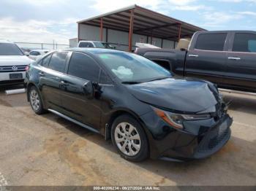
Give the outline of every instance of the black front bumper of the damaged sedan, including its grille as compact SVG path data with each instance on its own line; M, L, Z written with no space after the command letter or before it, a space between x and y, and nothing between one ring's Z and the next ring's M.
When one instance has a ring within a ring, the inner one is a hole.
M143 121L149 120L150 115L143 116ZM148 123L146 127L151 158L175 161L201 159L219 151L230 139L233 122L228 114L223 114L219 120L189 121L184 130L176 130L154 120L157 118L151 115L150 122L155 126Z

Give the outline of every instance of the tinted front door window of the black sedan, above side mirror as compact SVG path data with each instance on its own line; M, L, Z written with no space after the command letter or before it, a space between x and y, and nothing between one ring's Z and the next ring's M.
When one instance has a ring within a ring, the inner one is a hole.
M88 55L73 52L69 61L68 74L92 82L98 82L99 66L94 59L90 58Z

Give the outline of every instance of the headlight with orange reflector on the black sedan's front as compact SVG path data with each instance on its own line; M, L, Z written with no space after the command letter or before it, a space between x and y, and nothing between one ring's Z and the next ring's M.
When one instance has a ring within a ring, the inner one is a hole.
M183 129L184 120L205 120L211 117L210 114L174 114L171 112L166 112L162 109L157 109L152 107L154 112L167 122L170 126L176 129Z

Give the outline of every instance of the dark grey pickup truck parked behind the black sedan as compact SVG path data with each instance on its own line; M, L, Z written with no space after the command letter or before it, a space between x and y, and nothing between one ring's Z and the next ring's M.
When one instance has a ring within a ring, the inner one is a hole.
M256 92L256 32L198 31L187 49L138 48L135 53L174 74L230 90Z

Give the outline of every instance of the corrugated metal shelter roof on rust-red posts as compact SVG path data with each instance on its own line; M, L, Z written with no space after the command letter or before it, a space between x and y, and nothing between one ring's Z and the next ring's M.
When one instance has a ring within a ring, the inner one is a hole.
M177 40L179 26L181 26L181 38L191 37L195 31L206 31L203 28L176 20L173 17L162 15L134 4L129 7L117 9L96 17L78 21L79 24L100 26L103 18L103 27L119 31L129 31L130 10L134 10L133 33L146 36L154 36L162 39Z

